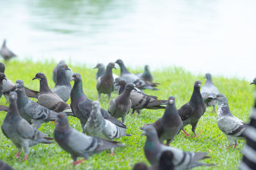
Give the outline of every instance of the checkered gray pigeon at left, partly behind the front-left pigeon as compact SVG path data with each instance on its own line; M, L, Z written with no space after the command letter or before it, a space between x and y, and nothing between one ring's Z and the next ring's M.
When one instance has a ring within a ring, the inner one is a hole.
M36 125L37 128L41 126L42 123L54 121L57 118L58 113L49 110L44 106L31 101L25 94L24 83L22 80L17 80L17 106L20 116L26 119L30 124Z

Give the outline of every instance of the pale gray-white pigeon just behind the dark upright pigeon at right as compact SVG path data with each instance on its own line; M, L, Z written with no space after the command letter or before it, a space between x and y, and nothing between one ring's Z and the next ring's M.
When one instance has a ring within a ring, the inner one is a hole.
M217 102L212 99L214 99L217 94L219 94L219 90L212 83L212 75L210 73L205 74L204 78L206 78L206 82L204 84L204 87L202 87L201 89L201 95L203 97L205 106L212 106L212 113L215 113L215 106Z

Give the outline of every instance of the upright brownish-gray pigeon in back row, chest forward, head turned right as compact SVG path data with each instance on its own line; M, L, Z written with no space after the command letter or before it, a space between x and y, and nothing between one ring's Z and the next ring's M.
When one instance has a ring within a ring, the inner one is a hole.
M98 90L98 100L100 101L100 94L108 94L108 101L110 101L111 92L113 92L113 73L112 69L115 68L115 64L113 62L109 62L106 72L97 79L96 88Z

